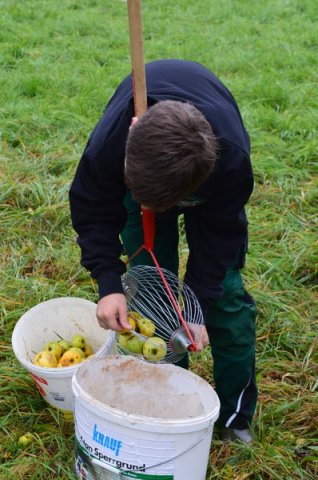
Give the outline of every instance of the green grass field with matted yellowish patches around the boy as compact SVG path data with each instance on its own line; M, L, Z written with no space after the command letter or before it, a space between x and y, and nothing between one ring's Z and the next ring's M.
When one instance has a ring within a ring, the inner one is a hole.
M74 479L73 426L11 349L19 317L58 296L97 301L79 265L68 188L130 71L126 3L0 1L0 478ZM258 309L257 441L215 440L207 480L318 478L315 0L144 0L145 57L204 63L250 133L255 192L244 272ZM183 263L186 246L180 245ZM209 350L192 370L211 378ZM34 442L18 445L30 431ZM185 479L187 480L187 479Z

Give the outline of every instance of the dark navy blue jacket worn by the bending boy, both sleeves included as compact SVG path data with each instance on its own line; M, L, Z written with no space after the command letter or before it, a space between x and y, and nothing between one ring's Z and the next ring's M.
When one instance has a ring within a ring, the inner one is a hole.
M220 143L215 171L196 194L197 231L186 283L203 307L222 296L229 266L242 267L247 244L244 205L253 190L250 144L237 104L218 78L202 65L160 60L146 65L148 104L188 101L207 118ZM117 88L92 132L70 190L71 216L82 250L82 265L99 284L100 296L122 292L119 234L123 205L125 143L134 116L129 75Z

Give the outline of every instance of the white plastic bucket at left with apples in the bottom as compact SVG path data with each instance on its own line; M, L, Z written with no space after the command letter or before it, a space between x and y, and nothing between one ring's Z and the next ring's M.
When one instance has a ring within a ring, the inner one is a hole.
M83 335L96 357L116 353L115 335L101 328L96 319L96 304L83 298L62 297L40 303L16 323L12 347L19 362L31 374L43 398L53 407L72 412L72 376L80 364L65 368L42 368L32 363L35 353L50 341ZM86 360L89 362L90 360ZM71 417L66 414L66 417Z

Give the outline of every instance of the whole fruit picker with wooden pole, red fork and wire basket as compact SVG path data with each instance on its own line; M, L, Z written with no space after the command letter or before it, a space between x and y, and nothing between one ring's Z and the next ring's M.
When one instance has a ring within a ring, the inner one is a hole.
M135 116L140 117L147 110L141 2L127 3ZM117 333L117 347L123 354L147 361L176 363L187 352L196 351L203 315L192 290L160 267L153 251L155 214L144 206L141 213L144 243L128 263L144 249L154 266L132 267L122 278L132 328Z

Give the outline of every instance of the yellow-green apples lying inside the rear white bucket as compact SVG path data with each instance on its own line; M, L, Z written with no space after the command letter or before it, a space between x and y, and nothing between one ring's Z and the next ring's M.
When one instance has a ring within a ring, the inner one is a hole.
M71 342L62 339L46 343L33 358L33 363L44 368L72 367L92 356L92 349L85 338L74 335Z

